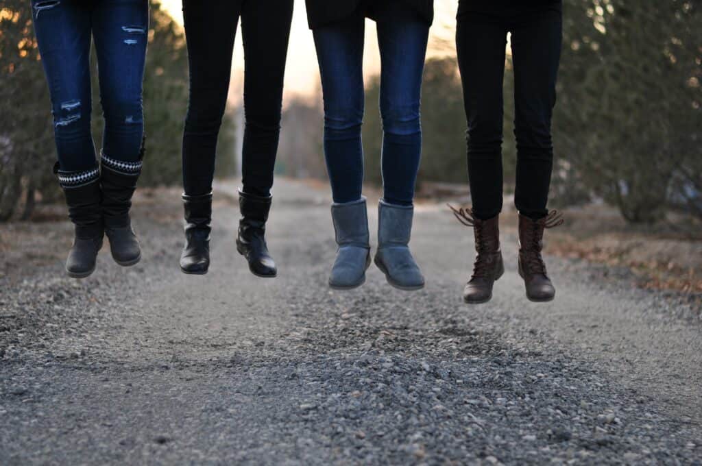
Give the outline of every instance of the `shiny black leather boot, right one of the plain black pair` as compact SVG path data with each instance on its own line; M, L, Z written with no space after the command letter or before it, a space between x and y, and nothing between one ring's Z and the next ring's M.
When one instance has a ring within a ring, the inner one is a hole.
M265 222L272 197L260 197L239 190L239 237L237 251L249 261L249 270L257 277L272 278L278 272L265 244Z

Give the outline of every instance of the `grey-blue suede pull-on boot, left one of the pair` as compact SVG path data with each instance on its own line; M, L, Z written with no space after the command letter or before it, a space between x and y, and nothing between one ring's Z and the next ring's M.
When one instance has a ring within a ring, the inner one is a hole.
M332 204L331 220L339 247L331 267L329 286L350 290L364 284L366 269L371 265L366 198Z

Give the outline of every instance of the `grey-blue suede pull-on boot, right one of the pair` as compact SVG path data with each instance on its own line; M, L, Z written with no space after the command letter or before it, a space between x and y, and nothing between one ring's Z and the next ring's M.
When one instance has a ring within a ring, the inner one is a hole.
M409 251L413 206L378 203L378 252L375 262L388 283L400 290L424 287L424 277Z

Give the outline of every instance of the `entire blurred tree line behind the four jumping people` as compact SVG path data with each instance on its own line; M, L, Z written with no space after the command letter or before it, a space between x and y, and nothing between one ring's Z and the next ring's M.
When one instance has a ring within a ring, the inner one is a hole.
M630 222L666 211L702 218L702 3L698 0L564 0L564 46L554 115L552 205L602 199ZM187 108L183 32L152 1L144 103L143 185L180 184ZM55 199L48 91L26 0L0 7L0 220L27 217ZM504 166L515 173L512 64L505 72ZM97 86L93 86L96 90ZM379 81L366 82L366 180L380 182ZM99 102L97 98L93 100ZM100 142L99 105L95 139ZM220 135L218 170L234 168L234 118ZM425 67L419 182L465 183L465 114L456 58ZM325 178L321 93L286 101L278 173ZM23 212L22 212L23 211Z

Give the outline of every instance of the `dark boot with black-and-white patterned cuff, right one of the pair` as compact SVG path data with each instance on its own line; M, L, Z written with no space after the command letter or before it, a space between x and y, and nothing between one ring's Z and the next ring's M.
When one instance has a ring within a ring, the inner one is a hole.
M142 166L144 149L138 161L119 161L102 154L102 215L110 251L119 265L134 265L141 259L139 241L131 227L129 209Z

